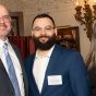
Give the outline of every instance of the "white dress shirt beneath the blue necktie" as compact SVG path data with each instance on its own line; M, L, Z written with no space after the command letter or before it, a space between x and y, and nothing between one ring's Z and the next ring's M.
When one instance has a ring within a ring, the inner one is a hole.
M0 59L2 60L3 65L4 65L5 70L7 70L7 72L8 72L8 65L7 65L7 61L5 61L5 57L4 57L4 52L3 52L4 51L4 49L3 49L3 44L4 43L8 44L8 50L9 50L10 57L11 57L11 59L13 61L14 70L15 70L16 77L17 77L17 81L19 81L21 96L25 96L21 64L20 64L20 61L19 61L13 48L9 44L8 39L5 41L0 40Z

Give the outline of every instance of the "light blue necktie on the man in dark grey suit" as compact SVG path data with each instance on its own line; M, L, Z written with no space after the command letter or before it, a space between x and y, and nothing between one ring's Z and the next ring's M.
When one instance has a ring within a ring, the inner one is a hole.
M9 51L8 51L8 44L7 43L4 43L3 48L4 48L7 64L8 64L9 77L11 80L11 83L12 83L13 87L14 87L15 96L21 96L15 70L14 70L14 67L13 67L13 62L10 58Z

